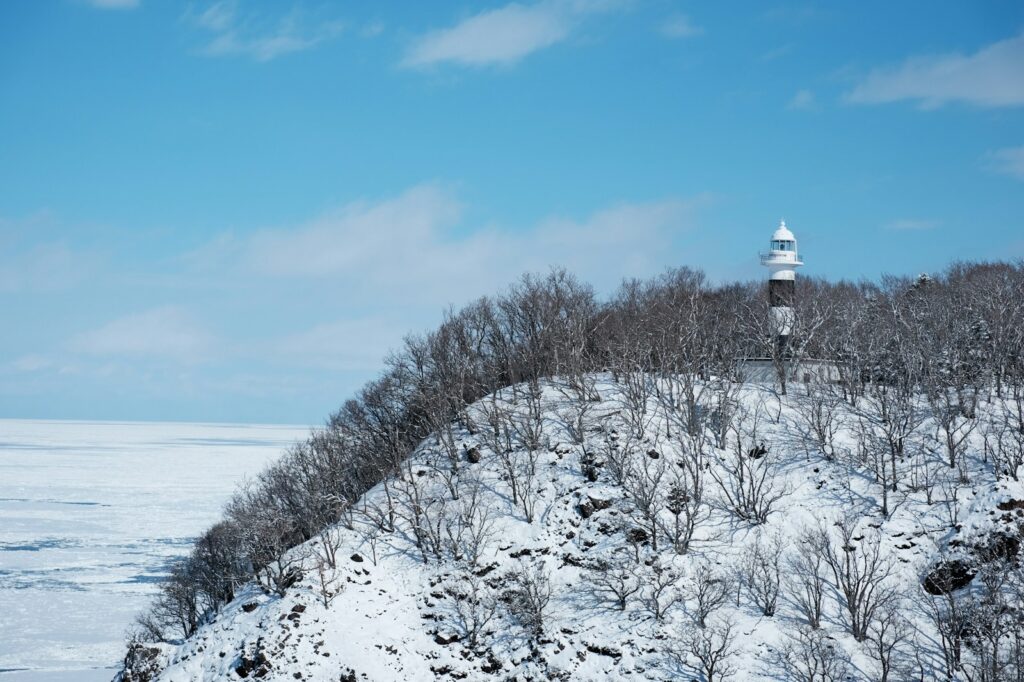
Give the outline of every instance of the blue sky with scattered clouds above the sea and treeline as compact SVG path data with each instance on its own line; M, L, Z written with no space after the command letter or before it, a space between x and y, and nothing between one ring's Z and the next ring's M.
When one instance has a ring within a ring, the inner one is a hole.
M0 417L317 423L564 265L1024 257L1019 2L0 5Z

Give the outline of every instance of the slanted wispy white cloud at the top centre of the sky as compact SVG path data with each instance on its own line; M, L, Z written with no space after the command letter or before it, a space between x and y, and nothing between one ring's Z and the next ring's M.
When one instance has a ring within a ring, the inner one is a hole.
M420 37L401 65L414 69L445 62L466 67L512 65L564 41L585 16L615 4L601 0L511 3Z

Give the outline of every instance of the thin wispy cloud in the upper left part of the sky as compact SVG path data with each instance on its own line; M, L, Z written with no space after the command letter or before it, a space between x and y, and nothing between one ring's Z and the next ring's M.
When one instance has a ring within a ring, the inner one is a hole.
M295 7L279 17L243 14L234 0L214 2L198 12L189 12L193 24L211 34L199 50L206 56L246 56L256 61L310 49L338 36L338 20L315 20Z

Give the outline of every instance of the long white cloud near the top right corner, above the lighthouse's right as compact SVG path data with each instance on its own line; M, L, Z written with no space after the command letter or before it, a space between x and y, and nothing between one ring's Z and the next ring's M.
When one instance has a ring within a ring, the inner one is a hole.
M914 99L926 109L952 101L978 106L1024 104L1024 34L973 54L918 56L876 70L846 98L860 104Z

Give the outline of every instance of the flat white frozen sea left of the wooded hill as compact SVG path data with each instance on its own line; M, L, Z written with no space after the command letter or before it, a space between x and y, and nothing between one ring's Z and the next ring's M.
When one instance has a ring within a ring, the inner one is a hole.
M110 680L168 562L307 432L0 420L0 682Z

